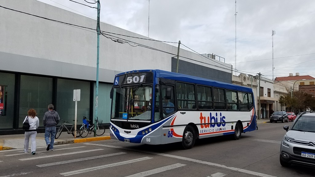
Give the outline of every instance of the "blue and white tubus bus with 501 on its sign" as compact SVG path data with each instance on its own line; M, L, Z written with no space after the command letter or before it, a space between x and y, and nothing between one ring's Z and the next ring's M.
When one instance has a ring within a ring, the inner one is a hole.
M182 142L256 129L251 88L200 77L139 70L117 74L111 90L111 139L130 143Z

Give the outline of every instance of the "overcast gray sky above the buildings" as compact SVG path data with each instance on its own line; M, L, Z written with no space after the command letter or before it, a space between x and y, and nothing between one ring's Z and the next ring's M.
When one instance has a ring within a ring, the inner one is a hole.
M96 9L68 0L39 1L97 17ZM148 0L100 0L100 4L101 21L148 36ZM296 72L315 77L314 0L238 0L236 5L237 70L261 72L272 79L274 30L274 78ZM219 55L235 67L234 14L235 0L150 0L150 38L180 40L199 54Z

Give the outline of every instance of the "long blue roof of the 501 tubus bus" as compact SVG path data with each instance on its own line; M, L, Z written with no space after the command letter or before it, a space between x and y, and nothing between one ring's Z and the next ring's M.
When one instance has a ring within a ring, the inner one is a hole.
M215 81L211 79L205 79L202 77L190 76L186 74L180 74L180 73L163 71L163 70L133 70L133 71L119 73L116 76L121 76L128 73L137 73L137 72L153 72L153 74L159 78L165 78L165 79L171 79L171 80L195 83L195 84L201 84L201 85L208 85L208 86L226 88L226 89L231 89L231 90L238 90L238 91L243 91L243 92L253 92L252 89L248 87L243 87L239 85L233 85L230 83L224 83L224 82Z

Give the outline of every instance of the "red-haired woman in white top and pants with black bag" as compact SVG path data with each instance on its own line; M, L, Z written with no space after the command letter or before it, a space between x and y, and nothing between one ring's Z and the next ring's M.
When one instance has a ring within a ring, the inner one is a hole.
M28 123L30 124L30 129L25 130L25 140L24 140L24 153L28 152L28 146L30 142L30 136L31 136L31 152L32 155L35 155L36 153L36 134L37 134L37 128L39 127L39 119L36 116L37 113L34 109L30 109L27 111L27 115L24 119L24 122L28 118ZM23 123L24 123L23 122Z

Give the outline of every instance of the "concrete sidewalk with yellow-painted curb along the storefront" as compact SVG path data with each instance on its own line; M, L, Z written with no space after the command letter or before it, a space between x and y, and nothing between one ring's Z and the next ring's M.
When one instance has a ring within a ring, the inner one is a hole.
M100 141L100 140L109 140L109 129L105 129L105 133L101 136L94 137L94 134L89 134L87 137L74 138L72 134L67 132L62 132L58 139L54 140L54 145L68 144L68 143L81 143L89 141ZM36 135L36 146L46 146L45 134L38 133ZM30 145L31 147L31 139ZM0 136L0 151L9 150L9 149L22 149L24 148L24 134L12 134L12 135L1 135Z

